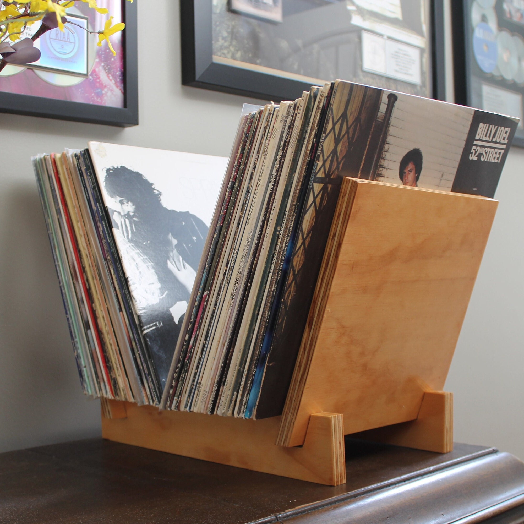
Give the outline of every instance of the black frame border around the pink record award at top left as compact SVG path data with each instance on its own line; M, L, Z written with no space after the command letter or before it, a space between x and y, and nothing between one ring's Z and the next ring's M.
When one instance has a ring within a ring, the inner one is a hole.
M89 124L138 125L138 62L136 2L122 2L124 49L124 107L109 107L41 96L0 92L0 112L57 118Z

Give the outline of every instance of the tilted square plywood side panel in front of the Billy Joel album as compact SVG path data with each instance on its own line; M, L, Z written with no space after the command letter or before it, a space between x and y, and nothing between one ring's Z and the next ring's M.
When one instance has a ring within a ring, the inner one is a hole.
M353 192L338 250L333 228L344 224L333 222L281 445L303 443L319 411L342 413L345 434L417 418L424 392L444 386L497 208L477 196L345 180L341 198Z

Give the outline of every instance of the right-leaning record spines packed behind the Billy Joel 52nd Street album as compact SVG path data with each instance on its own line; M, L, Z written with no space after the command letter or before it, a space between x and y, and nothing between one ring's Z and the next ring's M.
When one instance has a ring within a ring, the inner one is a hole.
M330 92L242 117L166 407L253 416Z

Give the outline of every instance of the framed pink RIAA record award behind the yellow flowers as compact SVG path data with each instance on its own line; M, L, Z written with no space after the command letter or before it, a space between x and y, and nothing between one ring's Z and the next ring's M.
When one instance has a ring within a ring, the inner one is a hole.
M67 12L64 30L51 29L35 41L40 59L26 65L8 64L0 71L0 112L61 118L93 124L138 124L136 2L99 0L124 21L111 37L116 56L98 35L109 15L83 2ZM31 37L39 23L23 35Z

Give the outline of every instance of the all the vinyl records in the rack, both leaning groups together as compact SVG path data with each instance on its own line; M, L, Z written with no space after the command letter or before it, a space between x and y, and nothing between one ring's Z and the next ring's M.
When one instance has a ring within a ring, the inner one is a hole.
M493 196L516 127L337 80L243 114L227 163L101 143L36 157L84 391L281 414L342 178Z

